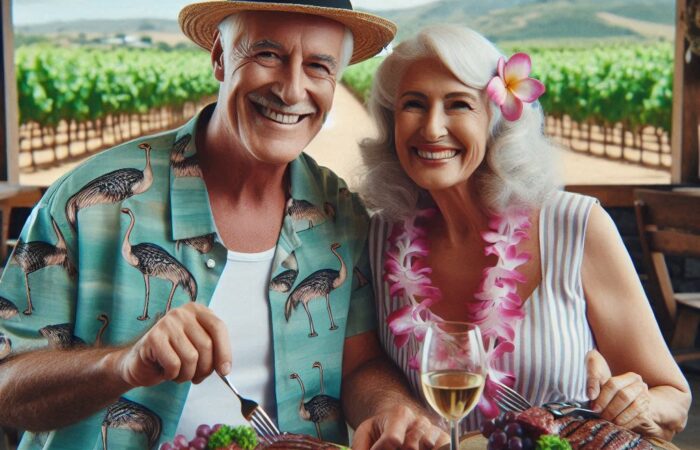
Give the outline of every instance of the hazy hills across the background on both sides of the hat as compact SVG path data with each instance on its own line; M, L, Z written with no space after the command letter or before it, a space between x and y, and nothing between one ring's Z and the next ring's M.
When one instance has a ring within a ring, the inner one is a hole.
M495 42L606 38L673 38L674 0L440 0L410 9L370 11L399 25L399 40L434 23L470 26ZM147 36L189 42L175 20L80 20L16 28L26 36ZM84 42L84 39L83 39Z

